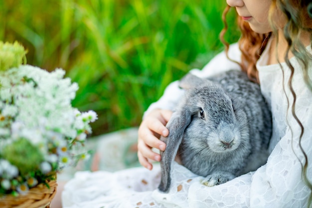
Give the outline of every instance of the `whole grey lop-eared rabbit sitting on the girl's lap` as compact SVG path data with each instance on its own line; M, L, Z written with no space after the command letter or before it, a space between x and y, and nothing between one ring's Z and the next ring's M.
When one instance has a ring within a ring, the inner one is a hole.
M272 117L258 84L244 72L231 70L209 79L187 74L179 86L185 95L166 125L169 135L160 138L166 149L160 152L159 191L169 191L177 153L184 167L205 177L206 186L223 184L266 163Z

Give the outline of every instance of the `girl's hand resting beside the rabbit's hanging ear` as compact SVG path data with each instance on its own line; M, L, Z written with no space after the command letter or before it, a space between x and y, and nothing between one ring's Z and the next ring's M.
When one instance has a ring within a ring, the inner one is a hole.
M148 114L139 127L138 158L142 166L152 170L150 160L160 161L160 155L153 152L152 148L164 151L166 144L159 140L161 136L168 136L169 131L165 127L172 115L172 111L155 109Z

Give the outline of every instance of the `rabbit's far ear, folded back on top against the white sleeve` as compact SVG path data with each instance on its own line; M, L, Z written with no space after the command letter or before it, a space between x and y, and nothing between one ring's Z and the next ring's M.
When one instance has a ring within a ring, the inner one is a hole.
M211 81L209 81L208 79L202 79L198 76L188 73L179 80L179 87L187 90L197 88L202 85L209 85L210 83Z

